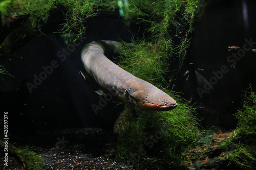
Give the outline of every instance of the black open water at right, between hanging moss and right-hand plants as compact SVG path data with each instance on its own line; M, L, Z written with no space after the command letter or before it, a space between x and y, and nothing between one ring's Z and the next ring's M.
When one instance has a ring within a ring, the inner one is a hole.
M235 128L232 114L242 106L243 90L249 84L255 90L256 53L245 51L256 48L255 11L255 1L212 1L195 28L189 62L203 68L200 74L214 87L211 100L205 105L212 113L202 113L204 124ZM253 41L253 46L248 41ZM233 45L239 50L228 51L228 46ZM233 55L238 57L231 58ZM224 72L222 67L226 68Z

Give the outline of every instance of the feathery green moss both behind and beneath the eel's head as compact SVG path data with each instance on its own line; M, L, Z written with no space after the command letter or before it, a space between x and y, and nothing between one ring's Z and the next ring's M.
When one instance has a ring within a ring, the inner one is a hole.
M159 44L141 41L125 44L119 66L175 98L165 80L168 74L168 55ZM182 163L183 149L196 141L199 134L195 108L187 101L175 99L178 107L172 111L142 111L126 108L122 131L118 136L119 159L130 159L144 148L148 153L161 154Z

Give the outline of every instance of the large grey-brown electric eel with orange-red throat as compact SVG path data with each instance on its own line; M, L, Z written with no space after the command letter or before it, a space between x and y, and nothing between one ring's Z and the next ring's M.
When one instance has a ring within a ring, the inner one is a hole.
M120 46L117 41L101 40L90 42L82 49L81 60L85 75L97 86L98 93L102 94L103 91L109 98L115 96L142 110L174 109L177 103L168 94L118 67L105 56L108 53L119 53Z

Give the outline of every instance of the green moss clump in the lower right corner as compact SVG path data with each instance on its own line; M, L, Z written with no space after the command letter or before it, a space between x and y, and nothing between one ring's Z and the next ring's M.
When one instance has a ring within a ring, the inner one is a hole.
M250 89L251 90L251 89ZM223 143L228 150L225 159L236 163L243 169L254 169L256 164L256 93L246 91L244 105L235 114L238 119L237 129L232 137Z

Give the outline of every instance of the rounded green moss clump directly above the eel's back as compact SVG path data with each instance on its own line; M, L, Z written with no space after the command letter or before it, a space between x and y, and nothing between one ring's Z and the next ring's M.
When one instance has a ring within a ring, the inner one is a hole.
M124 43L121 56L118 57L119 66L136 77L155 86L166 86L164 79L168 71L168 57L158 44L140 41Z

